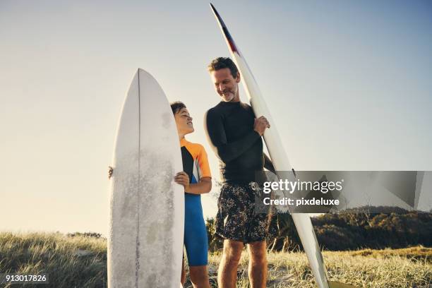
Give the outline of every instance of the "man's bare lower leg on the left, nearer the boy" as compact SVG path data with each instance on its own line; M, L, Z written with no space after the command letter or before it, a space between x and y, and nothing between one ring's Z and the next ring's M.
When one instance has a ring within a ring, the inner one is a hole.
M217 287L234 288L237 280L237 266L239 265L243 242L225 239L224 251L217 271Z

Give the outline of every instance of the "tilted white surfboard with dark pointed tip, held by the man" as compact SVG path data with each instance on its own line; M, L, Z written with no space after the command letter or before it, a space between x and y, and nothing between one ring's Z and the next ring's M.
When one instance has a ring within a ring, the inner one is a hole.
M260 89L258 88L258 84L256 83L255 78L253 78L251 69L249 69L248 64L246 64L246 60L241 55L239 47L237 47L234 43L232 36L229 34L227 26L220 17L220 14L217 13L215 7L212 4L210 4L210 6L213 13L215 14L220 30L222 31L222 34L224 35L224 38L227 42L229 52L231 52L232 58L234 59L236 66L239 68L241 81L246 88L246 94L248 95L249 102L251 102L253 112L257 117L265 116L271 125L271 128L265 129L264 140L265 145L268 148L268 152L270 153L272 163L277 171L291 171L291 179L289 180L295 181L296 175L294 169L292 168L291 164L289 164L287 152L285 152L284 147L282 146L282 140L280 139L279 133L277 133L275 121L273 121L270 110L268 109L267 104L265 104L264 97L261 95ZM286 175L284 175L284 178L286 178ZM292 219L296 225L301 244L303 244L304 251L306 252L306 256L308 258L309 264L311 265L311 269L313 271L313 275L315 276L318 287L352 287L347 284L333 284L332 282L328 281L328 275L327 270L325 270L323 256L321 254L320 247L318 246L318 241L316 239L315 232L313 231L312 222L309 215L303 213L292 213Z

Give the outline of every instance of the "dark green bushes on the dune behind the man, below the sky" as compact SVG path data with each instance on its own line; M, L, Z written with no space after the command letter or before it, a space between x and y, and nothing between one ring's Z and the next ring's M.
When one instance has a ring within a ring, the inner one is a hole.
M312 223L318 243L330 251L432 246L432 213L365 207L313 217ZM214 225L214 220L207 221L210 251L222 248ZM302 249L291 215L273 217L268 247L270 251Z

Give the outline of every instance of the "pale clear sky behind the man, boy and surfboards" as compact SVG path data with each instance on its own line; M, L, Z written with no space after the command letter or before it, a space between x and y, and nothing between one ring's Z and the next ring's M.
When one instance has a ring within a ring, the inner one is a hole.
M431 1L214 1L297 170L432 170ZM206 1L0 1L0 229L107 235L107 166L138 67L186 103L212 174ZM242 100L246 101L241 90ZM215 199L203 197L204 213Z

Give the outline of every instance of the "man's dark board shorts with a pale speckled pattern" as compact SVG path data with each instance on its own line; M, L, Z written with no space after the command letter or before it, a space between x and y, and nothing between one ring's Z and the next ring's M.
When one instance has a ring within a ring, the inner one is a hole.
M217 200L216 234L244 244L265 241L269 236L272 210L256 210L260 195L253 184L224 184Z

